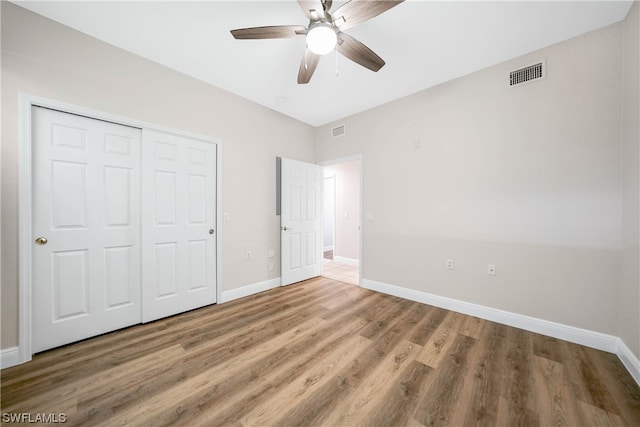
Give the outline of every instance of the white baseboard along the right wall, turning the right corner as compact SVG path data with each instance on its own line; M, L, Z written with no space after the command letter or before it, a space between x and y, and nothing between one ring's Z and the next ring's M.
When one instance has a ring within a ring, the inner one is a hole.
M491 307L485 307L453 298L428 294L400 286L362 279L361 286L372 291L394 295L411 301L429 304L447 310L456 311L503 325L513 326L538 334L547 335L564 341L584 345L598 350L617 354L631 376L640 385L640 362L633 352L616 336L511 313Z

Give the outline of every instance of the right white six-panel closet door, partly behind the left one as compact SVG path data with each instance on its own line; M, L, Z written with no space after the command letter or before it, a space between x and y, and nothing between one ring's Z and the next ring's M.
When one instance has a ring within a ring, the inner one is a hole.
M216 145L143 131L142 319L216 302Z

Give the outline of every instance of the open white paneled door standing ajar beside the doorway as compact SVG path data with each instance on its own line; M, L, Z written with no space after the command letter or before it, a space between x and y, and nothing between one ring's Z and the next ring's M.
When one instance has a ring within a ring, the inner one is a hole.
M322 274L322 167L282 159L280 179L284 286Z

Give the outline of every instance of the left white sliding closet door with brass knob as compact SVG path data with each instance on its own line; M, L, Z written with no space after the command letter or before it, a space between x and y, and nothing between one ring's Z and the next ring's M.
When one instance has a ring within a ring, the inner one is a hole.
M140 323L141 132L39 107L32 123L38 352Z

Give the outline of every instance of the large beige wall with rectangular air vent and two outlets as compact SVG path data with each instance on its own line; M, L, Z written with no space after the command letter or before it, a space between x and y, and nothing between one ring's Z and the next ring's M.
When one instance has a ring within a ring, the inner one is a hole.
M363 278L618 335L621 29L317 129L318 160L363 156Z

